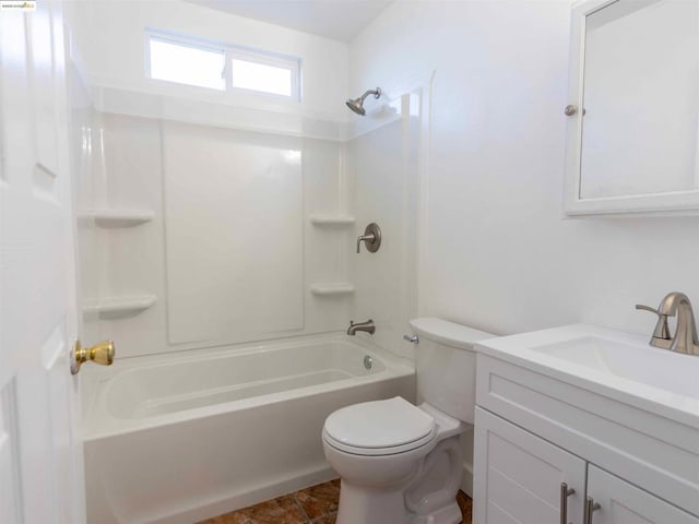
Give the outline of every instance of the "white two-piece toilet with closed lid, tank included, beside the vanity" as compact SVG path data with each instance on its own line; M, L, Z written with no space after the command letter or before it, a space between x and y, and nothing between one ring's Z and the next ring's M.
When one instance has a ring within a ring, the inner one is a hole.
M440 319L411 322L417 407L396 396L332 413L323 449L341 477L336 524L455 524L459 436L473 424L473 344L495 335Z

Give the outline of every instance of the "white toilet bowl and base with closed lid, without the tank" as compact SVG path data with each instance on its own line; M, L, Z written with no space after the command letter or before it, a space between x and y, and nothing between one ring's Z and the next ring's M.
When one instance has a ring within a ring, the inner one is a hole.
M462 474L459 436L466 429L428 404L415 407L400 396L333 413L323 449L342 479L337 524L460 522L454 496ZM371 436L375 442L364 439Z

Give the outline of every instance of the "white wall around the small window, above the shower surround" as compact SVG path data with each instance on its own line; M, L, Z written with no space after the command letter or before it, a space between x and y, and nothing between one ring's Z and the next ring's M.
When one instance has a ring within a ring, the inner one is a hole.
M346 120L342 100L347 87L347 45L182 0L79 0L75 40L94 86L189 99L256 105L281 111ZM241 96L146 79L145 27L179 32L303 59L303 103L279 103L266 96Z

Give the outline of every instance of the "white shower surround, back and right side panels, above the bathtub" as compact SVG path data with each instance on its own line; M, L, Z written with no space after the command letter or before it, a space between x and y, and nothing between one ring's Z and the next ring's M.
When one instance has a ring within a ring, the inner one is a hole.
M412 356L401 334L416 303L418 115L399 109L347 142L93 119L81 206L152 216L81 221L84 325L119 341L119 357L344 331L365 317L379 326L374 342ZM375 221L384 245L357 255L356 236ZM337 284L351 290L315 291ZM154 303L95 306L138 297Z

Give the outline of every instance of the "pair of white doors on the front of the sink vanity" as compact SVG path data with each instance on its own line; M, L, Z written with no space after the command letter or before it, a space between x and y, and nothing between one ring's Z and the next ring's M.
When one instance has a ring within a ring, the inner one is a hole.
M699 524L699 517L485 409L476 408L475 421L474 524ZM587 497L600 504L590 522L583 519Z

